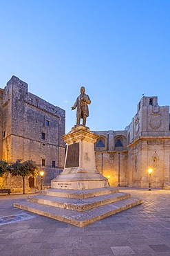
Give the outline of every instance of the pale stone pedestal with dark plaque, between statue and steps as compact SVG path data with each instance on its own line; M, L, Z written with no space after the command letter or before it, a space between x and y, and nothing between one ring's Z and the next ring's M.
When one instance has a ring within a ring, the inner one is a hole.
M73 127L70 133L62 136L67 143L65 167L52 180L52 188L89 190L109 186L107 178L96 170L94 143L98 137L83 125Z

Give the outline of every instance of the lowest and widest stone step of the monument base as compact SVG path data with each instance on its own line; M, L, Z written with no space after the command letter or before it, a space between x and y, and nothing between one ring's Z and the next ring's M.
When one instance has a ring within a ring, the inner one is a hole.
M112 214L127 210L128 208L134 207L140 203L142 203L141 199L136 199L133 197L122 201L117 201L115 203L102 205L98 208L93 208L85 212L78 212L30 201L14 203L14 207L28 210L29 212L34 212L58 221L70 223L78 227L83 227L105 217L109 217Z

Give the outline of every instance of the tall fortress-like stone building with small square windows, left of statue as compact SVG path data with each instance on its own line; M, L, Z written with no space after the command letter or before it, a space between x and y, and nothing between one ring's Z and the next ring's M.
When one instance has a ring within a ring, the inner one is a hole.
M12 76L0 89L0 114L0 159L35 161L45 170L44 182L50 185L64 166L65 111L28 92L28 84ZM0 185L17 188L21 183L8 177Z

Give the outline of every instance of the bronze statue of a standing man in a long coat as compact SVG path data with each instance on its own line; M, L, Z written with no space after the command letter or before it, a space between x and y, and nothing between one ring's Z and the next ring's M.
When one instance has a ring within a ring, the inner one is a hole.
M80 125L81 118L83 118L83 125L86 124L86 118L89 116L88 104L91 103L89 95L85 94L85 87L81 86L81 95L79 95L74 103L73 109L77 108L76 111L76 125Z

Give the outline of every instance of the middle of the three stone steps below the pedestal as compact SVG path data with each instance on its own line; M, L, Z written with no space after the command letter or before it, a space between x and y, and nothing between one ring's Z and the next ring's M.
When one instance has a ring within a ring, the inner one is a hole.
M118 192L114 194L105 194L102 196L94 196L86 199L72 199L63 198L59 196L46 196L35 195L28 197L28 201L34 203L42 203L45 205L52 205L59 208L65 208L69 210L76 210L78 212L84 212L92 208L99 207L108 203L114 203L116 201L124 200L130 197L130 194Z

